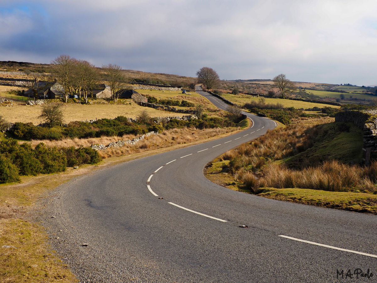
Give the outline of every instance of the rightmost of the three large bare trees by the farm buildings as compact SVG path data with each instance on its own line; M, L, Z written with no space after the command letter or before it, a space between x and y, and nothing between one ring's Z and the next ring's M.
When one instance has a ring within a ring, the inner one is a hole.
M111 98L116 102L119 91L127 88L127 78L124 76L121 66L109 64L102 66L102 69L107 84L110 86Z

